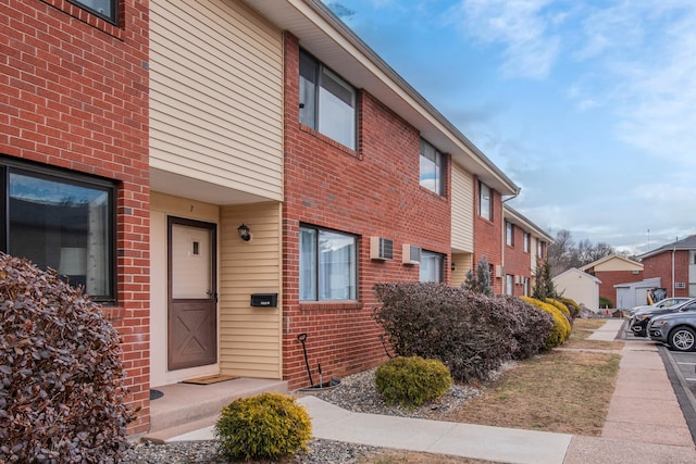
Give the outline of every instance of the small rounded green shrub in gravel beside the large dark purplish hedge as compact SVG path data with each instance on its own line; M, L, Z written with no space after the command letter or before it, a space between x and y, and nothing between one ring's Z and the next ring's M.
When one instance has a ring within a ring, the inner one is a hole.
M411 407L445 394L452 378L442 361L398 356L377 368L375 384L385 403Z

